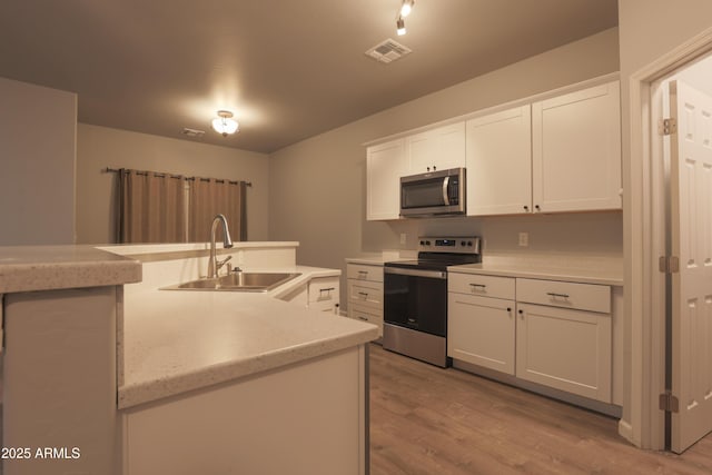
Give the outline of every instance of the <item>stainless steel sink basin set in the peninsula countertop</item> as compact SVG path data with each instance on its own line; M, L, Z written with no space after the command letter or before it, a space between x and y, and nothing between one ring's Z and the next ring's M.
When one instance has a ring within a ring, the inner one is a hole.
M198 279L164 287L161 290L228 290L268 291L297 276L299 273L233 273L216 279Z

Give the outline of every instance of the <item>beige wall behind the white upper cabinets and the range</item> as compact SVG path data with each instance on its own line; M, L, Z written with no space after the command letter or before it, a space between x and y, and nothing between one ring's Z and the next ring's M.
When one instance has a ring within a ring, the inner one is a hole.
M619 70L617 29L517 62L304 140L271 155L270 239L300 241L300 264L344 268L344 258L415 247L425 232L482 234L487 249L622 253L620 212L517 218L366 221L362 144ZM397 67L393 65L390 67ZM582 231L586 229L586 231ZM399 244L400 234L406 245ZM571 236L576 239L571 239Z

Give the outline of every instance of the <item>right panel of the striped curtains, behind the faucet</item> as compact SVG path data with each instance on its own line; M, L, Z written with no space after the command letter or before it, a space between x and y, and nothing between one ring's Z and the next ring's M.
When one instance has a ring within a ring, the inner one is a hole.
M243 181L195 178L190 185L188 241L209 241L210 225L218 214L227 218L233 240L246 240L245 190ZM221 232L218 228L217 239L222 239Z

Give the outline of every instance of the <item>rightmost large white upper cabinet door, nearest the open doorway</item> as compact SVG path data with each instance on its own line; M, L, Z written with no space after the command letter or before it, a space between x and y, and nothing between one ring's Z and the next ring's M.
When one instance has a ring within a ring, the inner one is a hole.
M622 207L619 89L615 81L534 102L534 211Z

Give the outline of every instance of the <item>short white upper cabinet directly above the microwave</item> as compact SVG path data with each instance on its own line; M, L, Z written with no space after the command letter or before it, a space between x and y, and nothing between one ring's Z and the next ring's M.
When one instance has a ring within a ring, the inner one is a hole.
M408 172L425 174L465 166L465 122L405 138Z

